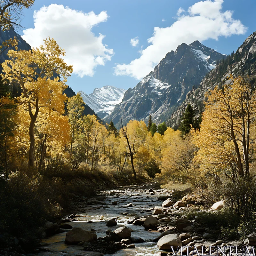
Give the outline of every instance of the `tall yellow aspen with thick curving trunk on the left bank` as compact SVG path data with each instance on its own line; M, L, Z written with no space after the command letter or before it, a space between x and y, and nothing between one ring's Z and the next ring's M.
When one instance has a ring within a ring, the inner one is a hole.
M59 47L54 39L44 40L44 45L32 51L14 51L9 50L8 57L2 64L4 79L9 82L15 82L20 85L22 94L18 101L24 108L28 109L30 116L29 140L30 146L28 151L28 166L33 167L35 151L34 127L40 108L44 107L46 102L44 98L44 86L50 88L66 88L67 77L72 73L72 66L67 66L61 56L65 56L65 51ZM54 74L61 76L54 78ZM55 91L52 89L51 93ZM63 106L63 98L58 104ZM47 101L47 99L46 99ZM54 109L59 108L55 105Z

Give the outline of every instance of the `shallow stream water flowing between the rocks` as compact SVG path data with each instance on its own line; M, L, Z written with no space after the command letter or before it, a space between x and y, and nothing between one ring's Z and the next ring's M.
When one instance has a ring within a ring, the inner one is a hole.
M116 255L116 256L152 256L157 252L160 252L156 246L156 243L151 242L154 238L159 236L161 233L157 231L146 231L142 226L134 226L132 224L128 224L129 220L132 220L133 217L129 217L126 215L122 215L120 213L129 212L135 213L140 216L145 216L152 214L153 211L148 211L155 206L161 206L162 201L157 200L158 196L167 195L164 190L154 189L154 196L150 196L148 193L148 189L153 188L154 184L151 185L131 185L120 187L116 190L108 190L103 191L103 195L107 196L107 199L104 200L105 203L108 204L109 208L100 208L95 209L95 207L100 206L94 205L94 207L87 207L84 213L78 214L81 217L78 217L79 221L69 222L73 228L81 227L86 230L95 229L98 237L106 236L106 231L109 229L106 226L106 222L114 217L117 217L117 226L111 227L110 229L114 231L116 228L121 226L127 226L134 230L132 232L132 236L141 237L146 243L135 244L134 249L123 249L117 251L115 254L104 254L105 256ZM156 192L158 191L158 192ZM115 192L114 195L109 195L110 193ZM149 196L148 198L146 196ZM117 201L117 205L111 205L112 202ZM133 207L128 207L127 204L132 203ZM103 205L101 205L103 206ZM91 209L92 208L92 209ZM144 211L145 213L140 213ZM82 217L83 216L83 217ZM87 223L89 220L92 220L92 223ZM83 246L78 245L66 245L65 244L65 236L66 232L61 234L56 234L49 238L43 240L43 243L47 243L48 245L44 246L44 248L49 248L52 252L40 252L37 254L38 256L75 256L81 255L83 251Z

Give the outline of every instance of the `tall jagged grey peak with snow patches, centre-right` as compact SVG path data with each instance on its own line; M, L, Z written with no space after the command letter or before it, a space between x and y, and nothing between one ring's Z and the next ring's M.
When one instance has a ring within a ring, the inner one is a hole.
M175 52L166 54L154 71L124 93L122 102L105 121L117 124L121 117L124 123L131 119L147 121L150 114L153 122L166 121L193 86L215 68L217 60L226 57L197 40L179 45Z

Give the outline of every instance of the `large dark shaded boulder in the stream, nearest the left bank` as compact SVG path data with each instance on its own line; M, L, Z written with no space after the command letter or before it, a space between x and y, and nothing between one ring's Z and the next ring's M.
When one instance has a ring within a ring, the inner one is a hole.
M66 234L66 244L78 244L82 241L89 242L97 239L97 235L82 228L73 228Z

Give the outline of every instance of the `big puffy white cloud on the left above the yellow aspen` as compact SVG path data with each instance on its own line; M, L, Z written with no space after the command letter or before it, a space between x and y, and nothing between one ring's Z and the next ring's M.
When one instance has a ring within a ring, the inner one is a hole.
M93 76L94 68L105 65L114 54L113 49L102 43L104 35L92 33L93 26L107 19L105 11L84 13L51 4L34 12L35 28L23 30L22 38L33 47L39 47L48 36L54 38L66 50L64 59L68 65L73 65L75 74Z

